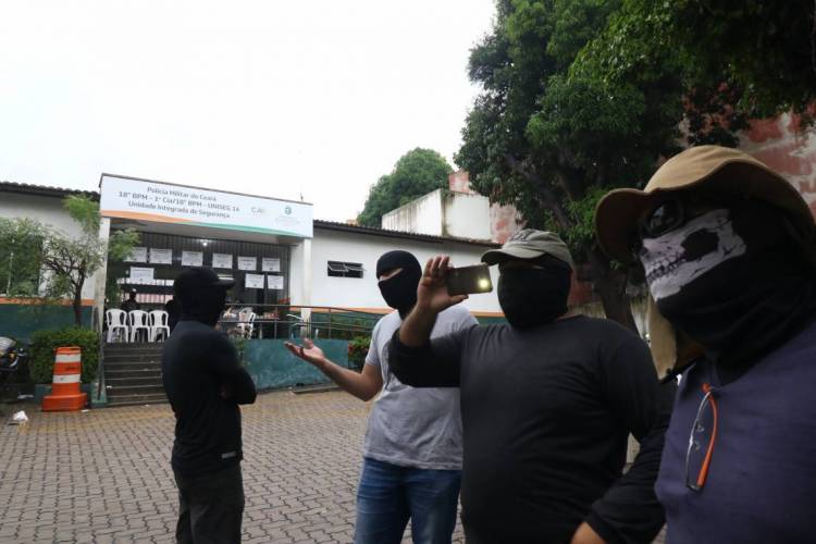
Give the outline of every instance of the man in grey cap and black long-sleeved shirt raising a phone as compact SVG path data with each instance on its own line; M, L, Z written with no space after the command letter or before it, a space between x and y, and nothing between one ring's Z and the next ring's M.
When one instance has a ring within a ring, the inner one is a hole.
M448 258L436 257L390 344L404 383L460 388L468 542L652 542L671 392L647 347L569 312L572 259L554 233L523 230L482 260L499 267L509 324L430 337L437 313L467 298L447 293ZM630 433L641 452L621 475Z

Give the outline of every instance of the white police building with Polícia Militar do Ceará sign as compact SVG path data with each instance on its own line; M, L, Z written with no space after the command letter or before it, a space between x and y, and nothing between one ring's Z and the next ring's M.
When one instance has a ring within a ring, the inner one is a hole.
M28 217L78 234L62 206L62 199L75 193L3 183L0 215ZM97 317L106 307L118 307L132 288L137 289L145 309L161 307L172 296L173 279L188 265L213 267L220 275L233 277L233 298L249 305L381 313L390 311L375 277L382 254L403 249L421 263L435 255L449 255L454 264L467 265L496 247L489 239L314 221L307 202L112 174L102 174L100 193L84 194L100 201L100 237L122 228L133 228L140 236L128 262L109 263L87 281L83 302L92 306ZM493 274L495 285L495 270ZM120 299L106 301L111 282L119 286ZM18 301L0 298L0 302ZM478 317L500 316L495 293L474 295L465 305Z

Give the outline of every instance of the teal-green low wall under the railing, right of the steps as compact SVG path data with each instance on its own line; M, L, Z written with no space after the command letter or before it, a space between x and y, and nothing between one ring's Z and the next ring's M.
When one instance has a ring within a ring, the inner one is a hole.
M292 355L281 339L251 339L244 347L247 371L258 390L276 390L297 385L329 383L319 370ZM348 342L322 339L318 345L326 357L343 367L348 367Z

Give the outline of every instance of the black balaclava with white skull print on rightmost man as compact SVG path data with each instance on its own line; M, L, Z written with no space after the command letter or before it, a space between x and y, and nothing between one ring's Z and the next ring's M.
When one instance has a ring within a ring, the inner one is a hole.
M718 368L745 368L816 316L816 280L782 213L734 201L693 218L640 252L660 313Z

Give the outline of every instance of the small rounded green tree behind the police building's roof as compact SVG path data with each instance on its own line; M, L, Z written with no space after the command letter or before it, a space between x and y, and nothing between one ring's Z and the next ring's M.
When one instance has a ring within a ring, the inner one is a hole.
M383 213L410 202L432 190L447 187L447 176L454 171L442 154L432 149L411 149L374 184L366 205L357 217L358 223L380 226Z

